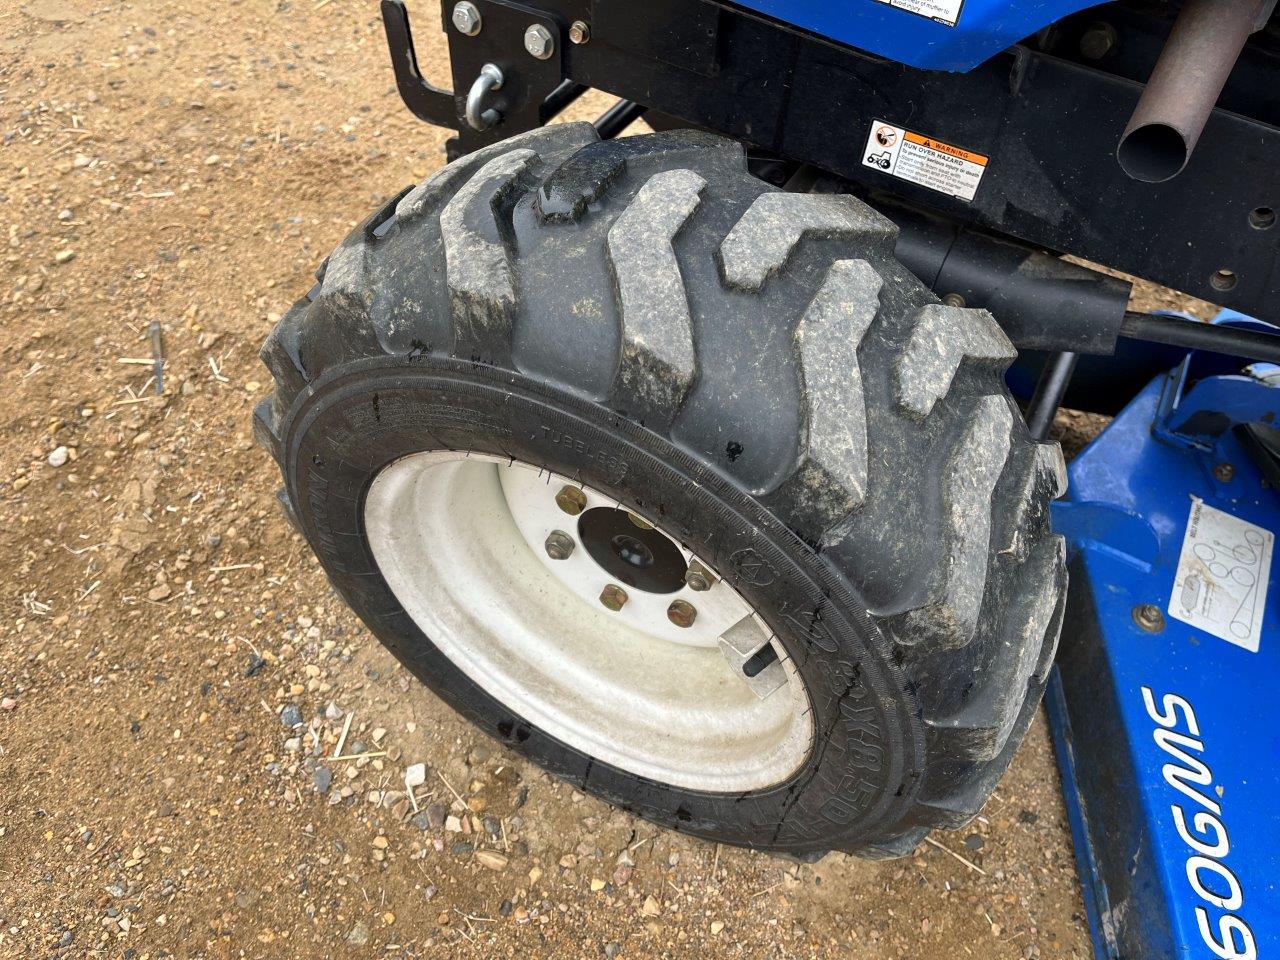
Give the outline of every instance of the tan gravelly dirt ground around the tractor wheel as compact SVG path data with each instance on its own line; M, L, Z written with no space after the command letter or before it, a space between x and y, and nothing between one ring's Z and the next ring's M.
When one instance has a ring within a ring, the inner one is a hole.
M801 867L550 781L337 600L250 412L442 161L372 3L9 0L0 131L0 956L1088 956L1042 719L970 828Z

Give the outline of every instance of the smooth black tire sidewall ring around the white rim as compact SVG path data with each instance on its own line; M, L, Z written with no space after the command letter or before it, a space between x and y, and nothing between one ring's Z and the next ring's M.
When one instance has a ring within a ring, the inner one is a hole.
M416 357L349 364L285 428L294 513L330 581L420 680L490 736L602 799L672 828L795 854L893 833L919 781L914 696L856 591L755 498L598 403L495 367ZM364 500L393 461L433 449L513 457L594 486L705 558L760 613L809 694L814 745L787 781L748 794L658 783L600 763L472 682L397 602Z

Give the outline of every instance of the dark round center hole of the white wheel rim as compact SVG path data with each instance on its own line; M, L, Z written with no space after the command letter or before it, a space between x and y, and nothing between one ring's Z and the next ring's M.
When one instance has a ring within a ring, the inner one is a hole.
M596 563L621 584L655 594L685 586L689 566L675 541L640 527L625 509L594 507L577 520L579 539Z

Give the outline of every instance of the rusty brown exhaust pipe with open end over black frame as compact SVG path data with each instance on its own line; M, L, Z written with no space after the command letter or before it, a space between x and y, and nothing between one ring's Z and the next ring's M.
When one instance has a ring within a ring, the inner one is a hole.
M1276 0L1187 0L1147 88L1120 138L1116 159L1135 180L1181 173L1245 41Z

